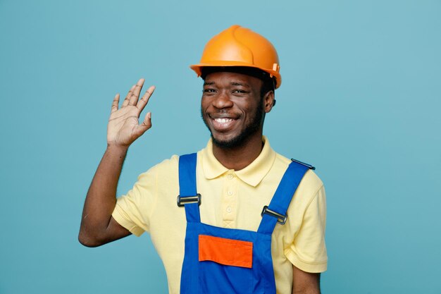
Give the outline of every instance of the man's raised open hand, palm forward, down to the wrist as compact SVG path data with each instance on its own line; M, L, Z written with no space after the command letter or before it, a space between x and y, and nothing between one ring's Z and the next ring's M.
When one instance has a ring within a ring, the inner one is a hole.
M138 123L138 118L142 109L144 109L149 102L155 87L149 87L142 98L139 99L142 85L144 85L144 79L138 80L136 85L132 86L120 109L118 109L120 94L116 94L113 99L111 116L108 118L107 125L107 144L109 146L128 147L133 141L144 134L146 130L151 128L150 112L146 114L141 124Z

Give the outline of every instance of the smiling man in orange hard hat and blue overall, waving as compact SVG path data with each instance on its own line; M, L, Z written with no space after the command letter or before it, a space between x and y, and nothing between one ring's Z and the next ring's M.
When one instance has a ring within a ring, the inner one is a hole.
M138 118L154 87L139 99L139 80L120 107L117 94L80 243L96 247L149 232L170 293L320 293L327 267L323 183L312 166L274 152L263 136L282 82L273 45L233 25L191 68L204 79L208 144L142 173L116 200L128 147L151 128L151 113L141 124Z

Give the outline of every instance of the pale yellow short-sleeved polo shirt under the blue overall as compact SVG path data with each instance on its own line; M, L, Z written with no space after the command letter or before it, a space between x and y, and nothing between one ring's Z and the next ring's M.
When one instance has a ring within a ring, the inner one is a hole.
M201 194L201 222L223 228L257 231L264 205L290 164L271 149L263 137L263 149L249 166L234 171L214 157L212 143L197 156L197 191ZM185 209L178 207L178 156L142 173L127 195L119 197L113 218L135 235L147 231L161 257L168 290L180 292L180 271L185 247ZM277 293L291 293L292 264L308 272L327 267L325 247L326 202L323 183L306 172L294 193L285 225L276 225L271 254Z

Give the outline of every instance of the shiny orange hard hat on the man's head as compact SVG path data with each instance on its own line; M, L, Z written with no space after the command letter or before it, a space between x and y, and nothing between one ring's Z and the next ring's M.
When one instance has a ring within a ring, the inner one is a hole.
M245 66L259 68L275 78L275 89L280 87L279 57L273 44L261 35L240 25L232 25L206 43L199 64L190 66L201 76L206 66Z

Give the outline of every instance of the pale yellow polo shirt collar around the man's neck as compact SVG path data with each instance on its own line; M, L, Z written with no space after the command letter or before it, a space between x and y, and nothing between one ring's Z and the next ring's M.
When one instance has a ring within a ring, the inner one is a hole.
M249 166L241 169L240 171L234 171L236 176L243 180L248 185L256 187L264 176L270 171L275 160L275 152L270 146L268 139L263 136L263 149L259 154L259 157L254 159ZM204 171L205 178L211 180L228 172L228 169L223 166L213 154L213 142L211 139L206 145L205 149L201 150L202 155L202 169Z

